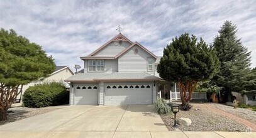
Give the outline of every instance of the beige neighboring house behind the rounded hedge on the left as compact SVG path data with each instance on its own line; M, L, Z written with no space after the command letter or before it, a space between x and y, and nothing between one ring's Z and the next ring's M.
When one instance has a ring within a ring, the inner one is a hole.
M26 91L31 86L34 86L39 83L44 83L44 82L64 82L65 79L71 77L74 75L74 72L69 68L69 66L56 66L55 71L49 75L47 78L40 78L38 80L34 80L27 85L24 85L22 88L22 93ZM66 84L69 86L69 84ZM21 95L22 95L21 93ZM20 102L21 95L18 95L17 101Z

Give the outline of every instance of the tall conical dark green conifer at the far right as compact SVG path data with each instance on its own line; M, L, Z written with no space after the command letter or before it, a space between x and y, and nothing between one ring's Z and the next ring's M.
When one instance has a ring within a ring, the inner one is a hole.
M220 59L220 72L213 78L213 82L221 87L224 101L231 92L242 92L243 85L250 71L250 52L237 38L237 26L231 21L225 21L218 36L214 38L213 47Z

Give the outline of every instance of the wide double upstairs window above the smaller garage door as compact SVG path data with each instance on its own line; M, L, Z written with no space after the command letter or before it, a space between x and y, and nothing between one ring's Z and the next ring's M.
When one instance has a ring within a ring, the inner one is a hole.
M104 60L88 60L88 72L103 72Z

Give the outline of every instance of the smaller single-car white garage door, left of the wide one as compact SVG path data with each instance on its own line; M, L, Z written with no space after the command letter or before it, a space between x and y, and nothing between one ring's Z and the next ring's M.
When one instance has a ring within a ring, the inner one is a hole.
M96 83L75 86L74 105L98 105L98 85Z

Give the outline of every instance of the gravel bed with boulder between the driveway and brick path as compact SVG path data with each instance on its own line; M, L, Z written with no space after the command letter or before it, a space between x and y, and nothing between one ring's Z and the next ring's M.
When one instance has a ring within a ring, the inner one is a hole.
M211 112L206 106L207 104L192 104L193 107L189 111L177 113L177 119L181 117L189 118L192 124L189 126L179 126L182 131L230 131L230 132L251 132L252 130L245 125L239 124L233 119L229 119L224 115ZM215 104L214 104L215 105ZM224 105L226 106L226 105ZM199 110L195 110L199 109ZM169 130L174 125L174 115L161 115L162 120ZM255 117L255 116L254 116ZM255 120L255 118L254 118Z

